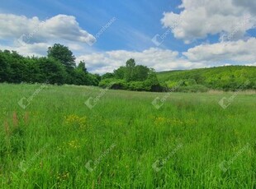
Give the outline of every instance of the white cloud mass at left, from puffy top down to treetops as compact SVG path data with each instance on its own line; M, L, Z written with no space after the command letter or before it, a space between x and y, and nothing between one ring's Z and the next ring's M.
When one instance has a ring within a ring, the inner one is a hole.
M14 50L24 56L45 56L48 47L60 43L73 52L89 52L95 38L83 30L74 16L57 15L40 21L13 14L0 14L0 49ZM88 44L85 44L88 43Z

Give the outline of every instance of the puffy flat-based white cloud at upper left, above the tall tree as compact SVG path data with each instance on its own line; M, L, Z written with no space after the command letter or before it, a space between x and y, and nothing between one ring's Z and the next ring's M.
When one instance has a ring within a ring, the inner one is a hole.
M65 39L93 43L95 38L83 30L74 16L57 15L40 21L13 14L0 14L0 39L18 39L26 44L45 43L51 39Z

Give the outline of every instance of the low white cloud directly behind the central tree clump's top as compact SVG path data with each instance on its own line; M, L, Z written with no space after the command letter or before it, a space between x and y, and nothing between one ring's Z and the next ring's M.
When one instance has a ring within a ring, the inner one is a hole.
M149 48L141 52L116 50L105 53L92 53L80 56L77 60L84 60L89 71L102 74L111 72L118 67L125 66L126 61L129 58L135 58L137 64L153 67L156 71L207 67L206 64L189 62L184 58L180 58L176 51L160 48Z

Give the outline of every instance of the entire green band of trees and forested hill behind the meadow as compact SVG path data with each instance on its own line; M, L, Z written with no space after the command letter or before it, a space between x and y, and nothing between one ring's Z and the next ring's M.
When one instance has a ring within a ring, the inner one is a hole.
M54 44L46 57L24 57L0 50L0 82L95 85L116 90L206 92L207 90L255 90L256 67L211 67L187 71L164 71L136 65L130 58L124 66L102 76L78 65L68 47Z

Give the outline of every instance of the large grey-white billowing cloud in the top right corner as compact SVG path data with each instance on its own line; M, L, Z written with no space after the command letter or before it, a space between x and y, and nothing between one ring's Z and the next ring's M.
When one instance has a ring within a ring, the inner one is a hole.
M255 27L255 2L250 0L182 0L181 12L164 12L161 22L172 29L177 39L191 43L207 35L221 34L222 39L241 39Z

